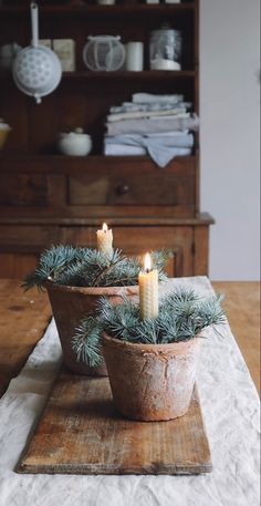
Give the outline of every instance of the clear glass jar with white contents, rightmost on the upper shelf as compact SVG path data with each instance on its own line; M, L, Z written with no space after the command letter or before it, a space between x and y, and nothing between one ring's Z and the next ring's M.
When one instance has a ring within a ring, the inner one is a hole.
M181 32L163 27L149 39L150 70L180 70Z

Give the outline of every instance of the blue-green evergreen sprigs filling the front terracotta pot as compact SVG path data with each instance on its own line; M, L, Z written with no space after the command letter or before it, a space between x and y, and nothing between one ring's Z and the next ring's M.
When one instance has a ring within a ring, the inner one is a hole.
M220 297L201 300L191 289L179 289L165 297L159 316L143 320L139 306L126 297L123 303L112 306L105 297L100 299L96 316L82 320L73 340L77 357L94 363L97 360L102 332L116 339L136 343L170 343L194 339L207 327L226 321Z

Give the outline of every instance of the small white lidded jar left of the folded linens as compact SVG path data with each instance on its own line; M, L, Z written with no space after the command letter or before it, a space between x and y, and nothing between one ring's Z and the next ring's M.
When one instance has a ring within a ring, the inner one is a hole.
M63 155L86 156L92 149L92 138L83 132L83 128L75 128L67 134L61 133L58 146Z

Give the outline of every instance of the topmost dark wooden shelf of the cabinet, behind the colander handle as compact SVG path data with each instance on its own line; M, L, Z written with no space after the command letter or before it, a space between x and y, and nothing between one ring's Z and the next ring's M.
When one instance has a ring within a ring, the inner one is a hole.
M114 6L40 6L40 14L44 17L66 17L66 16L86 16L86 17L155 17L168 16L170 12L177 16L187 12L194 12L195 3L174 3L174 4L114 4ZM0 17L19 17L29 16L29 4L27 6L2 6L0 7Z

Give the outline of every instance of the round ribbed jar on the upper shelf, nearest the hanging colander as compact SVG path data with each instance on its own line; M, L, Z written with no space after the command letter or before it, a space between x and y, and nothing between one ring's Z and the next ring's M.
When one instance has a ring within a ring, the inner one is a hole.
M121 37L96 35L88 37L83 48L83 61L93 71L116 71L125 60L125 49Z

